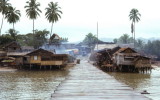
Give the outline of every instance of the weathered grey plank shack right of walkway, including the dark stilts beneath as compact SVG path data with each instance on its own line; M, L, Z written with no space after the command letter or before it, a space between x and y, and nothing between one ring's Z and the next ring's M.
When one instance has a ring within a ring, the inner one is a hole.
M134 61L140 54L131 48L121 48L114 53L114 63L119 71L133 72L135 70Z

